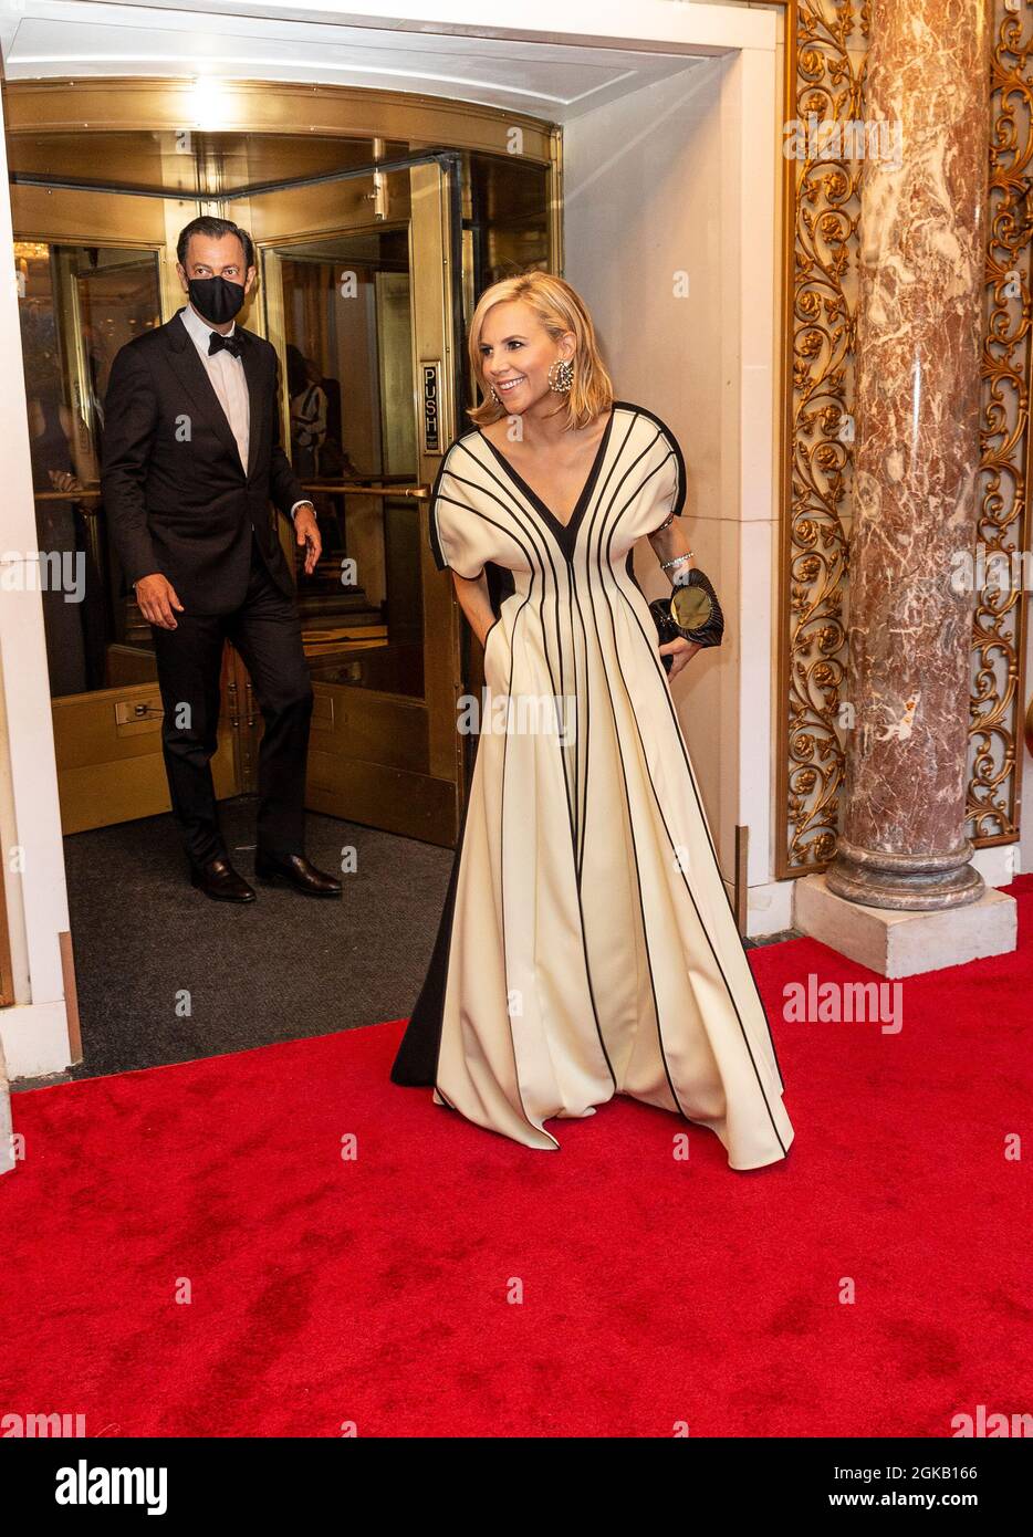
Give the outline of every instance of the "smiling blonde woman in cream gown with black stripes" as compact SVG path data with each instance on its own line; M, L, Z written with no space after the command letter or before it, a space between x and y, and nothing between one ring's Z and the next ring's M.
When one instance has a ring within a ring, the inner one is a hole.
M629 1094L709 1127L732 1168L773 1164L782 1079L661 661L673 678L698 647L658 646L632 570L643 535L689 552L681 450L613 400L561 278L489 287L469 346L486 400L441 461L430 546L489 698L390 1076L530 1148Z

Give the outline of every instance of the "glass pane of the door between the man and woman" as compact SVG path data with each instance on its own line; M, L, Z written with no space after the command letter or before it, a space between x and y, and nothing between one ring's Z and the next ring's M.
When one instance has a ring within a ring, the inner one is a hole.
M311 576L295 546L312 676L421 699L409 227L291 244L267 266L275 258L291 458L323 536Z

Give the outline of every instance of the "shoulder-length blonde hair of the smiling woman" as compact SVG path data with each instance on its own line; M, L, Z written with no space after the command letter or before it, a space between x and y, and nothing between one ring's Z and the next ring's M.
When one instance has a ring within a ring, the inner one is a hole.
M532 272L518 272L516 277L503 278L501 283L492 283L477 301L467 344L470 350L470 369L484 400L469 412L470 420L478 427L486 427L489 423L507 415L506 407L500 401L492 400L490 386L484 380L481 334L487 312L495 304L506 304L513 300L523 300L523 303L529 304L553 340L558 340L564 330L573 332L575 347L570 358L573 363L573 378L570 381L570 392L556 397L558 410L566 410L567 427L587 427L590 421L613 404L613 381L603 363L600 344L595 340L595 326L581 295L569 283L564 283L563 278L536 269Z

